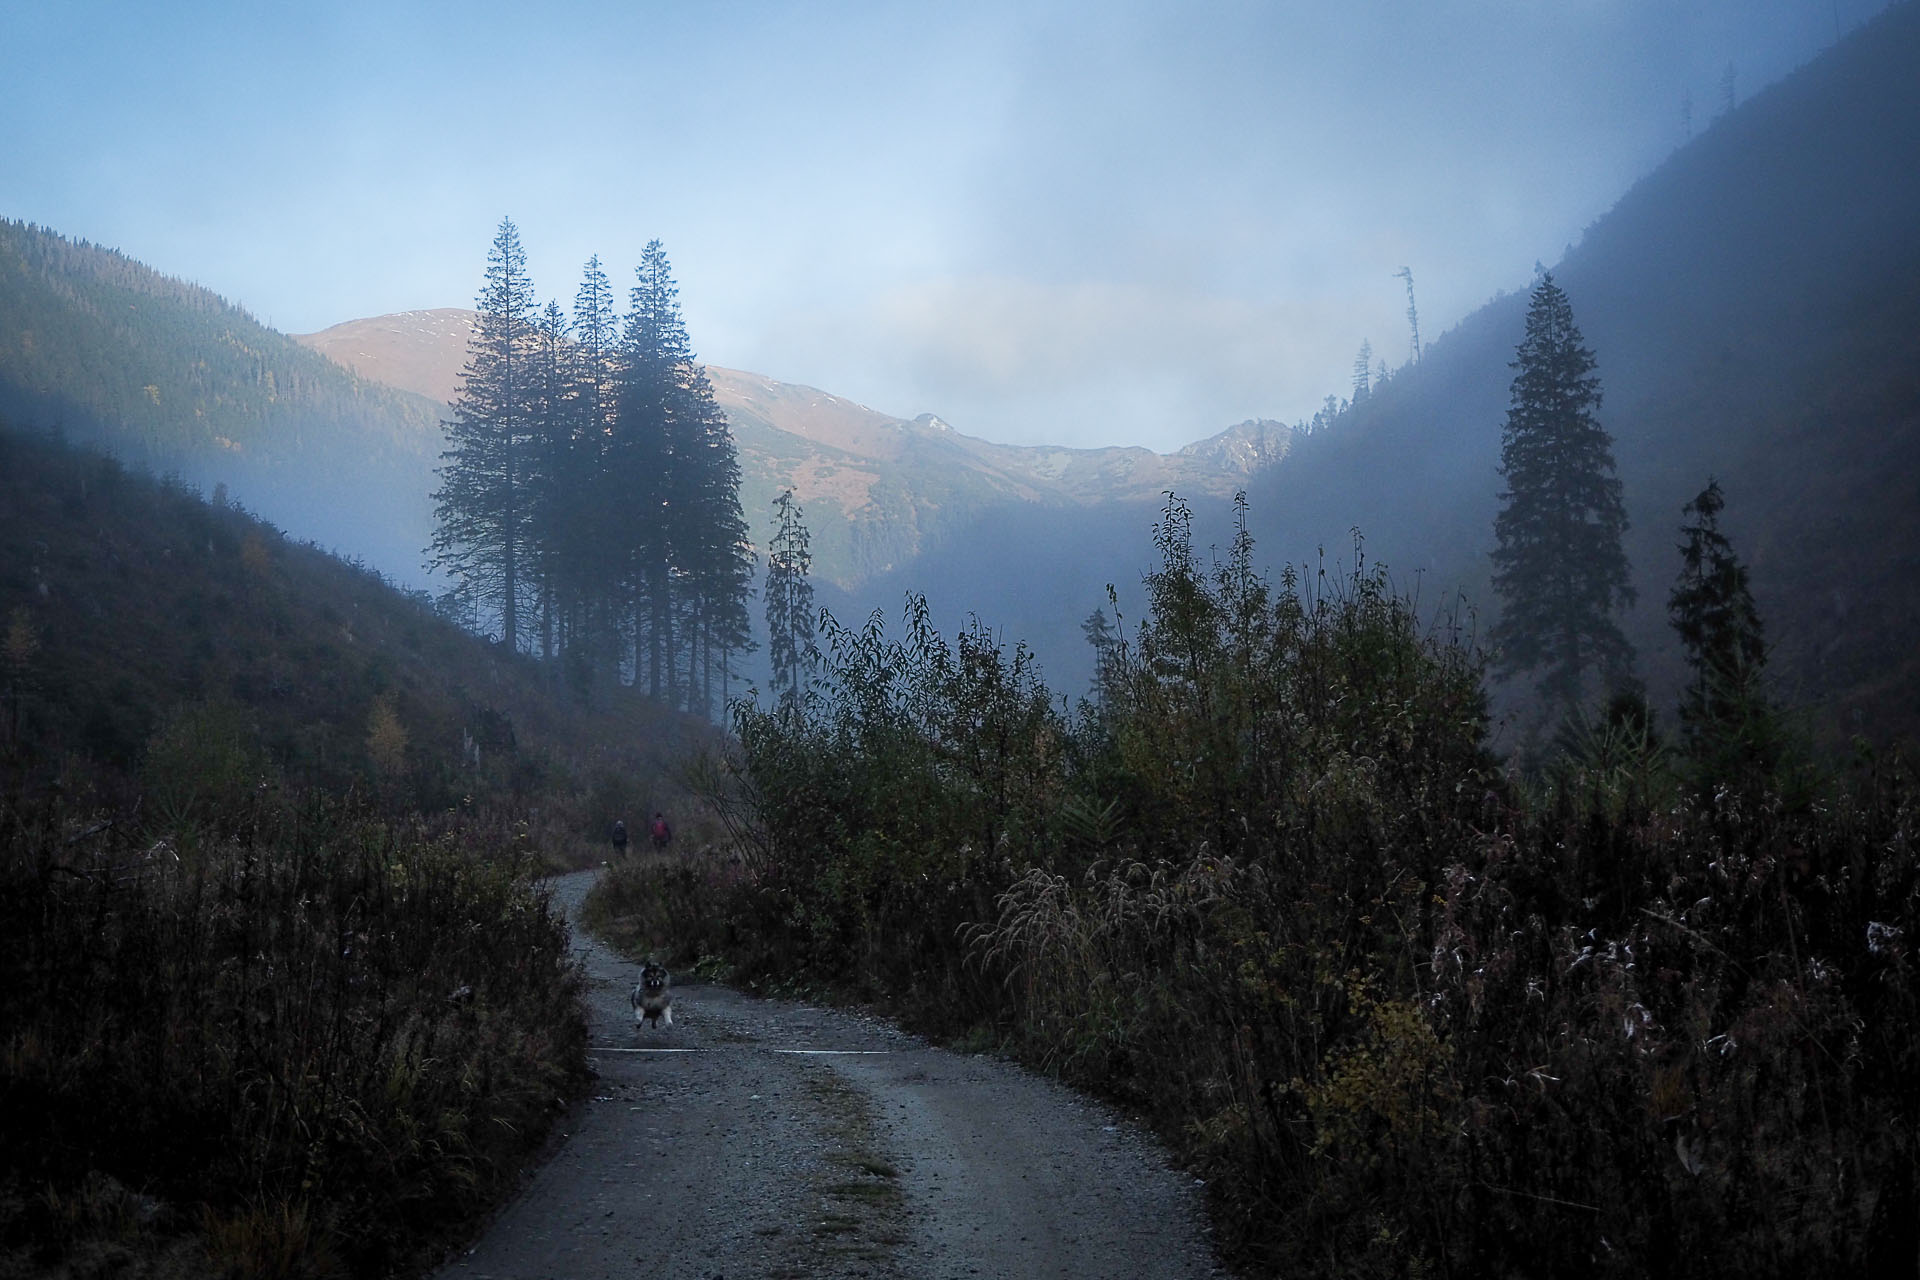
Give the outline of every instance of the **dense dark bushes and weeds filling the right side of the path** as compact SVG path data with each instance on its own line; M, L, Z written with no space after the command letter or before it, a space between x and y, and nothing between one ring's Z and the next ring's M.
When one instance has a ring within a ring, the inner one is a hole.
M829 631L708 779L747 865L699 946L1152 1115L1261 1274L1912 1274L1912 771L1716 779L1613 716L1523 781L1379 570L1187 530L1077 716L918 606Z

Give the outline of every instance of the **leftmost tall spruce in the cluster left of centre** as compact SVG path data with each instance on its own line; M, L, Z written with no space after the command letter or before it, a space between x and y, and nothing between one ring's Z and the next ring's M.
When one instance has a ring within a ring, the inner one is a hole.
M532 516L534 286L513 219L493 234L476 305L461 391L444 424L428 564L495 616L501 643L518 649Z

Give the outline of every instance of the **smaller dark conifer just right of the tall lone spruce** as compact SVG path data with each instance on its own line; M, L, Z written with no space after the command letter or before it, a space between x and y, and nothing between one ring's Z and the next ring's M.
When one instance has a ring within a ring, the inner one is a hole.
M1682 510L1680 578L1667 597L1667 612L1693 679L1680 695L1680 725L1695 756L1738 748L1768 720L1763 687L1766 637L1753 606L1747 566L1720 532L1726 499L1718 482ZM1759 735L1768 737L1768 735ZM1749 752L1751 754L1751 752Z

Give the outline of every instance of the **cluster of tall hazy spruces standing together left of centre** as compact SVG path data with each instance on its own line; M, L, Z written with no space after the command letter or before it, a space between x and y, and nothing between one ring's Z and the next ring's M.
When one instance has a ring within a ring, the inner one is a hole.
M620 315L599 257L538 307L503 219L445 424L430 564L505 647L699 714L753 649L739 461L649 242Z

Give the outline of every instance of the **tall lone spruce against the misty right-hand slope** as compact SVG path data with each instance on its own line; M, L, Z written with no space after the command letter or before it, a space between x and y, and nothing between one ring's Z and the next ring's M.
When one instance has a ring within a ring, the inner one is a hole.
M1492 639L1501 676L1542 672L1536 691L1563 708L1582 704L1590 676L1619 683L1632 670L1632 647L1615 622L1634 599L1620 549L1626 507L1613 438L1596 418L1594 367L1567 294L1542 276L1501 432L1507 489L1494 520L1501 616Z

